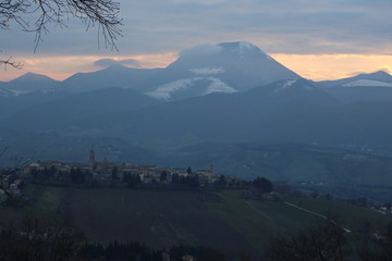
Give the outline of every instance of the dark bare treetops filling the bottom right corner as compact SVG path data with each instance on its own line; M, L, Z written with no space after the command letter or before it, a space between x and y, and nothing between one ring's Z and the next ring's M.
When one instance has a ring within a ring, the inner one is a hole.
M334 222L272 238L266 261L390 261L392 226L382 234L373 229L347 232Z

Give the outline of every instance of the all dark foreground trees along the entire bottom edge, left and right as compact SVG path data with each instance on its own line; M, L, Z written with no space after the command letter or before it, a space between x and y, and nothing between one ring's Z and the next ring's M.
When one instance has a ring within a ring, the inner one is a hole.
M389 261L392 257L392 226L382 234L371 227L347 232L333 222L286 233L270 239L262 261ZM186 259L188 258L188 259ZM249 256L226 258L208 247L173 246L151 249L139 243L108 245L85 243L72 227L25 219L20 225L0 229L0 260L4 261L224 261L253 260Z

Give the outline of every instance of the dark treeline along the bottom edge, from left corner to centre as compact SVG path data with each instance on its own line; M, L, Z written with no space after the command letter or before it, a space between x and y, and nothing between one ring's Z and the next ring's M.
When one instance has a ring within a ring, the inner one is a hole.
M208 247L173 246L154 250L139 243L108 245L83 243L84 237L72 227L24 219L20 224L10 223L0 229L1 261L223 261L224 254Z

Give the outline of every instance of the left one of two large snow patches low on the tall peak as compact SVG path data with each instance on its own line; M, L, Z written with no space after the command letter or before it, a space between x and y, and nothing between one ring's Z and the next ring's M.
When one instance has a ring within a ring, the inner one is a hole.
M182 78L169 84L160 85L156 90L146 92L147 96L152 97L158 100L170 100L172 92L180 90L180 89L187 89L189 88L194 82L203 79L200 77L195 78Z

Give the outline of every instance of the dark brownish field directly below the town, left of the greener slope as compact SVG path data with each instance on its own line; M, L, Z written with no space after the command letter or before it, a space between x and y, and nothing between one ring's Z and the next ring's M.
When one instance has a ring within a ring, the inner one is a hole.
M204 245L255 251L192 191L75 189L69 211L73 223L95 241L138 240L157 248Z

